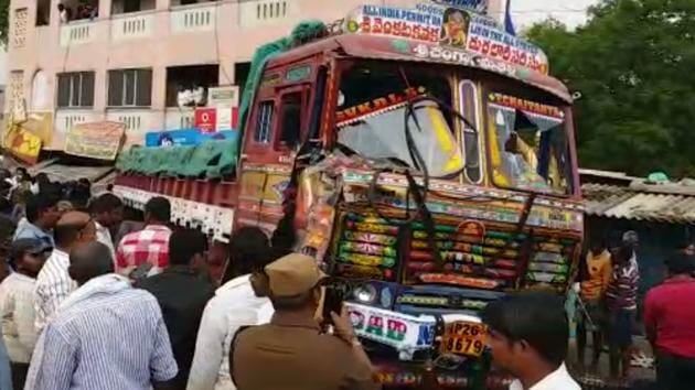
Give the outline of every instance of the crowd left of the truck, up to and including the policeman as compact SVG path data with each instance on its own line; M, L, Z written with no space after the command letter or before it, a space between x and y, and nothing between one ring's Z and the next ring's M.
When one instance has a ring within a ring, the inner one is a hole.
M249 372L231 368L231 361L255 361L252 356L231 359L235 335L269 324L265 331L275 333L276 347L282 348L285 332L303 324L298 335L306 338L319 328L313 314L323 274L316 261L271 248L258 228L234 234L229 266L217 285L206 272L207 237L172 228L167 198L145 205L143 224L126 224L124 204L110 192L83 199L79 191L67 191L73 186L43 175L31 177L21 169L3 174L3 218L15 221L15 228L4 230L1 390L212 390L235 389L235 382L242 389L267 389L253 376L232 380L231 372ZM323 353L292 356L285 349L282 366L332 354L332 361L354 362L349 369L333 367L323 376L327 383L376 388L346 313L334 315L335 337L316 333L316 343L304 339ZM261 353L269 339L254 342L253 333L245 332L238 343ZM264 366L256 370L261 378L267 377L258 370ZM287 372L307 371L296 368Z

